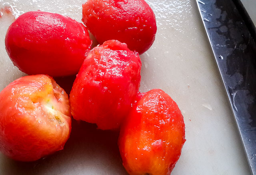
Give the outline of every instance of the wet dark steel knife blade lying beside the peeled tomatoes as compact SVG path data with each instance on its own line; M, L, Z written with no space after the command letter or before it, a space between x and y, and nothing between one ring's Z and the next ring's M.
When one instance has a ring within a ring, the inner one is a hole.
M197 0L197 5L256 175L256 29L240 0Z

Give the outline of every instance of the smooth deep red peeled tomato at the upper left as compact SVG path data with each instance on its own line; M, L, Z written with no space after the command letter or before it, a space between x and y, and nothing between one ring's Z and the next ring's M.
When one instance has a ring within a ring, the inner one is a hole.
M5 45L20 71L60 77L78 73L92 41L82 23L35 11L20 15L10 25Z

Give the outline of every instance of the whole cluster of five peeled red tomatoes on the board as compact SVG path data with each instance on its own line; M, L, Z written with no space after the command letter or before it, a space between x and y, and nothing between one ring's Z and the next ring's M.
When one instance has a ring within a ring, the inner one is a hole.
M144 0L88 0L82 8L86 27L36 11L8 28L6 51L29 75L0 92L0 151L34 161L63 149L72 116L120 130L129 174L170 174L185 142L183 116L164 91L139 92L139 54L156 35L152 9ZM87 28L100 43L93 49ZM52 77L76 73L68 98Z

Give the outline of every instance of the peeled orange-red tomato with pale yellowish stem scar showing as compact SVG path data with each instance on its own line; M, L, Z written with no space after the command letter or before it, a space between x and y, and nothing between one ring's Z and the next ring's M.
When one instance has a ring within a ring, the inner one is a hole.
M71 131L70 102L52 77L30 75L0 92L0 151L35 161L61 150Z

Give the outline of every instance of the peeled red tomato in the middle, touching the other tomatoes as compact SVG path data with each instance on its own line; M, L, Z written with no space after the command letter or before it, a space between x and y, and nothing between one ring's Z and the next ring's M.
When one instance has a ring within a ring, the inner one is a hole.
M70 92L76 120L96 123L102 130L118 130L140 86L141 61L125 43L109 40L94 47Z

